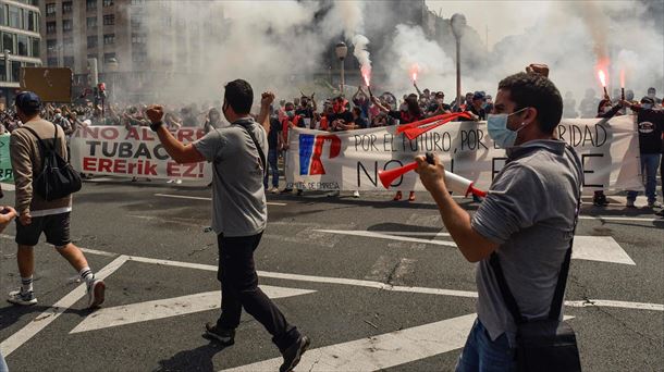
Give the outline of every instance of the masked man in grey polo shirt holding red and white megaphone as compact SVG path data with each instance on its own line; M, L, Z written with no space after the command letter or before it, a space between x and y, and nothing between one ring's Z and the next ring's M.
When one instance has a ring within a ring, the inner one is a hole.
M541 74L515 74L499 84L487 126L508 160L472 218L447 193L438 159L431 165L417 158L420 179L435 199L445 227L464 257L479 262L478 320L457 371L516 368L516 325L490 264L492 253L519 312L528 320L549 314L571 244L583 175L574 149L554 138L562 114L561 94Z

